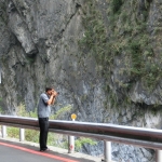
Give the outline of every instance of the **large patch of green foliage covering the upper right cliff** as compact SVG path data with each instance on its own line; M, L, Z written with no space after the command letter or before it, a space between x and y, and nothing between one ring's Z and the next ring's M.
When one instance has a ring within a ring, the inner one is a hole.
M150 0L146 0L141 9L139 1L108 0L107 18L98 10L96 1L87 0L82 8L82 24L84 35L79 40L82 55L91 55L97 63L97 72L105 79L105 92L109 95L108 102L120 106L116 93L110 91L111 72L117 56L122 55L122 71L131 82L117 81L123 92L129 93L136 81L141 81L144 89L151 92L162 77L162 68L156 56L151 37L147 30ZM105 4L106 5L106 4ZM122 10L121 10L122 9ZM154 35L160 29L154 30ZM158 39L158 38L157 38ZM120 75L120 73L119 73ZM127 98L125 93L125 98ZM124 99L129 100L130 99Z

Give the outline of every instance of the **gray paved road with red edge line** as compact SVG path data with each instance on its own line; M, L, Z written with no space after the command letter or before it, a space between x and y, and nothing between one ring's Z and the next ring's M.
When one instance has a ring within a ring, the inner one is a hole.
M38 147L0 140L0 162L94 162L54 151L40 152Z

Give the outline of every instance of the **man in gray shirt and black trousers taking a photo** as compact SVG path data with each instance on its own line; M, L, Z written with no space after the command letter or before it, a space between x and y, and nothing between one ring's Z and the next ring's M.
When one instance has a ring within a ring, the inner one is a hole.
M45 93L40 95L39 104L38 104L38 119L39 119L39 127L40 127L40 151L49 150L46 147L48 141L48 132L49 132L49 117L51 113L51 105L54 104L55 98L57 96L57 92L52 87L46 87Z

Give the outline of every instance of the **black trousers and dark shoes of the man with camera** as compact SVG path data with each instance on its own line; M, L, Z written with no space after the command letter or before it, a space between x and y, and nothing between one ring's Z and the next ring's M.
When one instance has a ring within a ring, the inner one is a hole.
M49 132L49 118L39 118L39 127L40 127L40 135L39 135L40 150L45 150L48 149L46 141Z

